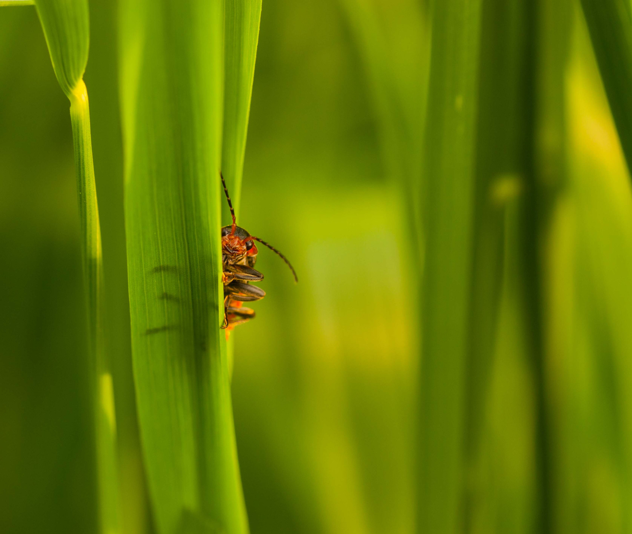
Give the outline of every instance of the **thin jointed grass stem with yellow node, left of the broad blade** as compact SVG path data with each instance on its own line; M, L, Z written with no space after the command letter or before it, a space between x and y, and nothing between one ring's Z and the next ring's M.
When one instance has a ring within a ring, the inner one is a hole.
M103 339L103 262L99 207L94 181L90 110L83 72L88 60L89 21L87 0L38 0L52 66L59 85L70 99L75 150L75 171L81 227L83 274L88 313L88 343L94 392L95 443L99 481L100 529L118 531L118 482L116 418L109 360Z

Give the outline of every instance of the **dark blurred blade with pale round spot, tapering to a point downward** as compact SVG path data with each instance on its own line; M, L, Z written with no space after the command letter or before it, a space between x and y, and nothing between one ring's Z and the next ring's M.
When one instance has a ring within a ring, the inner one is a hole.
M497 329L507 203L521 193L526 147L525 6L491 0L483 6L474 260L471 283L468 446L483 428L483 403ZM468 454L475 455L470 450Z

